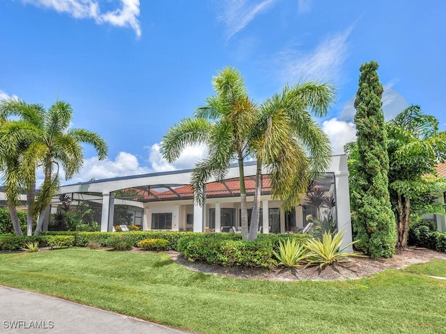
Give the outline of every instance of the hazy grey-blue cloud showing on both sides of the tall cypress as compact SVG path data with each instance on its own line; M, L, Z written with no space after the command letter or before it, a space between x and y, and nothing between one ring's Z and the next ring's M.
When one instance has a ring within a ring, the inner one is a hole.
M392 86L392 82L384 86L383 97L381 97L381 100L383 101L382 109L385 120L391 120L409 106L406 100L404 100L404 97L401 96L401 94L399 94L396 90L390 88ZM341 120L353 120L356 113L356 109L353 106L354 103L355 96L351 97L351 99L348 100L348 102L342 109L340 116Z

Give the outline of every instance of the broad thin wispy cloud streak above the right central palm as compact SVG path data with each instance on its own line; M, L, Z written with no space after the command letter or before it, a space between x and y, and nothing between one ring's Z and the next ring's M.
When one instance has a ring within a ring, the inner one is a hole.
M298 45L275 55L279 78L283 83L295 83L300 78L314 80L336 80L348 54L347 39L354 24L345 31L325 38L310 52L303 52Z

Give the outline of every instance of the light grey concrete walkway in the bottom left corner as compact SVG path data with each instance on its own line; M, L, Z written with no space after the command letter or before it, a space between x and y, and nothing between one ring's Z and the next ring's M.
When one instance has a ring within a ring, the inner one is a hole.
M0 333L181 334L148 321L0 286Z

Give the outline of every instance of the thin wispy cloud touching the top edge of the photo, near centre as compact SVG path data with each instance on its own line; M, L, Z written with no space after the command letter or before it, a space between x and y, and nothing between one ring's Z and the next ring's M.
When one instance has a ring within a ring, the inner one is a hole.
M264 13L277 0L258 1L226 0L220 2L217 19L226 26L226 38L229 40L251 22L256 15Z

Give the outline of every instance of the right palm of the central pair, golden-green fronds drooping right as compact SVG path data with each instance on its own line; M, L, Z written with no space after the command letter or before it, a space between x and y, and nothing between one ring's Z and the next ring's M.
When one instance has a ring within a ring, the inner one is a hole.
M270 177L272 198L284 200L284 209L295 207L307 192L309 180L328 168L330 141L312 114L326 116L333 101L330 84L305 81L286 86L261 104L249 139L257 159L249 239L256 239L259 228L262 166Z

